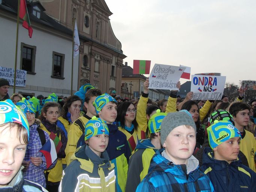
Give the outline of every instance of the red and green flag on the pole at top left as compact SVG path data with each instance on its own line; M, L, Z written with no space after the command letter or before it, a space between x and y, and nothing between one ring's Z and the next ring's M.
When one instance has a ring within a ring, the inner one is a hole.
M33 29L29 20L29 13L27 12L26 0L20 0L20 18L23 19L23 27L29 30L29 37L32 37Z

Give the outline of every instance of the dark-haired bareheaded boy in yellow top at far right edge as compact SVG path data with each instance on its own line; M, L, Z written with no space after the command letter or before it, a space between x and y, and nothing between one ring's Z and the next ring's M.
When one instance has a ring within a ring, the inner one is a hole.
M229 108L229 113L233 115L235 127L241 132L240 151L247 157L249 167L255 169L256 140L253 133L244 129L248 125L250 118L250 106L244 102L235 102Z

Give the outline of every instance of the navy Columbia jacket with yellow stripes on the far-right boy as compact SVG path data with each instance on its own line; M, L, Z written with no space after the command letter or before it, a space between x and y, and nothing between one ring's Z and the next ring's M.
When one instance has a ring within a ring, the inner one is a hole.
M210 178L215 191L256 191L256 173L238 159L230 164L213 158L213 151L206 147L200 169Z

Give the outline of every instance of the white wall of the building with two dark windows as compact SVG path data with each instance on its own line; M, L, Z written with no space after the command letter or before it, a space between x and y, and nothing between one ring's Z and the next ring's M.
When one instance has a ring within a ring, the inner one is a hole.
M7 18L0 17L0 66L14 68L16 23ZM32 25L33 27L33 25ZM21 42L36 46L35 73L27 74L26 87L16 87L15 92L35 93L35 96L54 92L58 96L69 96L71 91L71 63L72 63L72 40L48 31L33 27L33 36L30 39L28 30L19 25L17 69L20 69ZM53 51L65 54L64 80L51 78L53 65ZM73 68L73 91L77 91L78 83L78 56L74 58ZM9 95L13 89L10 87Z

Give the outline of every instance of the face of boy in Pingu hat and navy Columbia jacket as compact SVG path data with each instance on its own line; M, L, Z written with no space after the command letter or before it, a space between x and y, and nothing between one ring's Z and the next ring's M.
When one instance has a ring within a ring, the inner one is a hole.
M213 148L214 158L217 160L226 160L231 163L232 160L237 159L239 153L240 137L233 137L224 141L217 147Z

